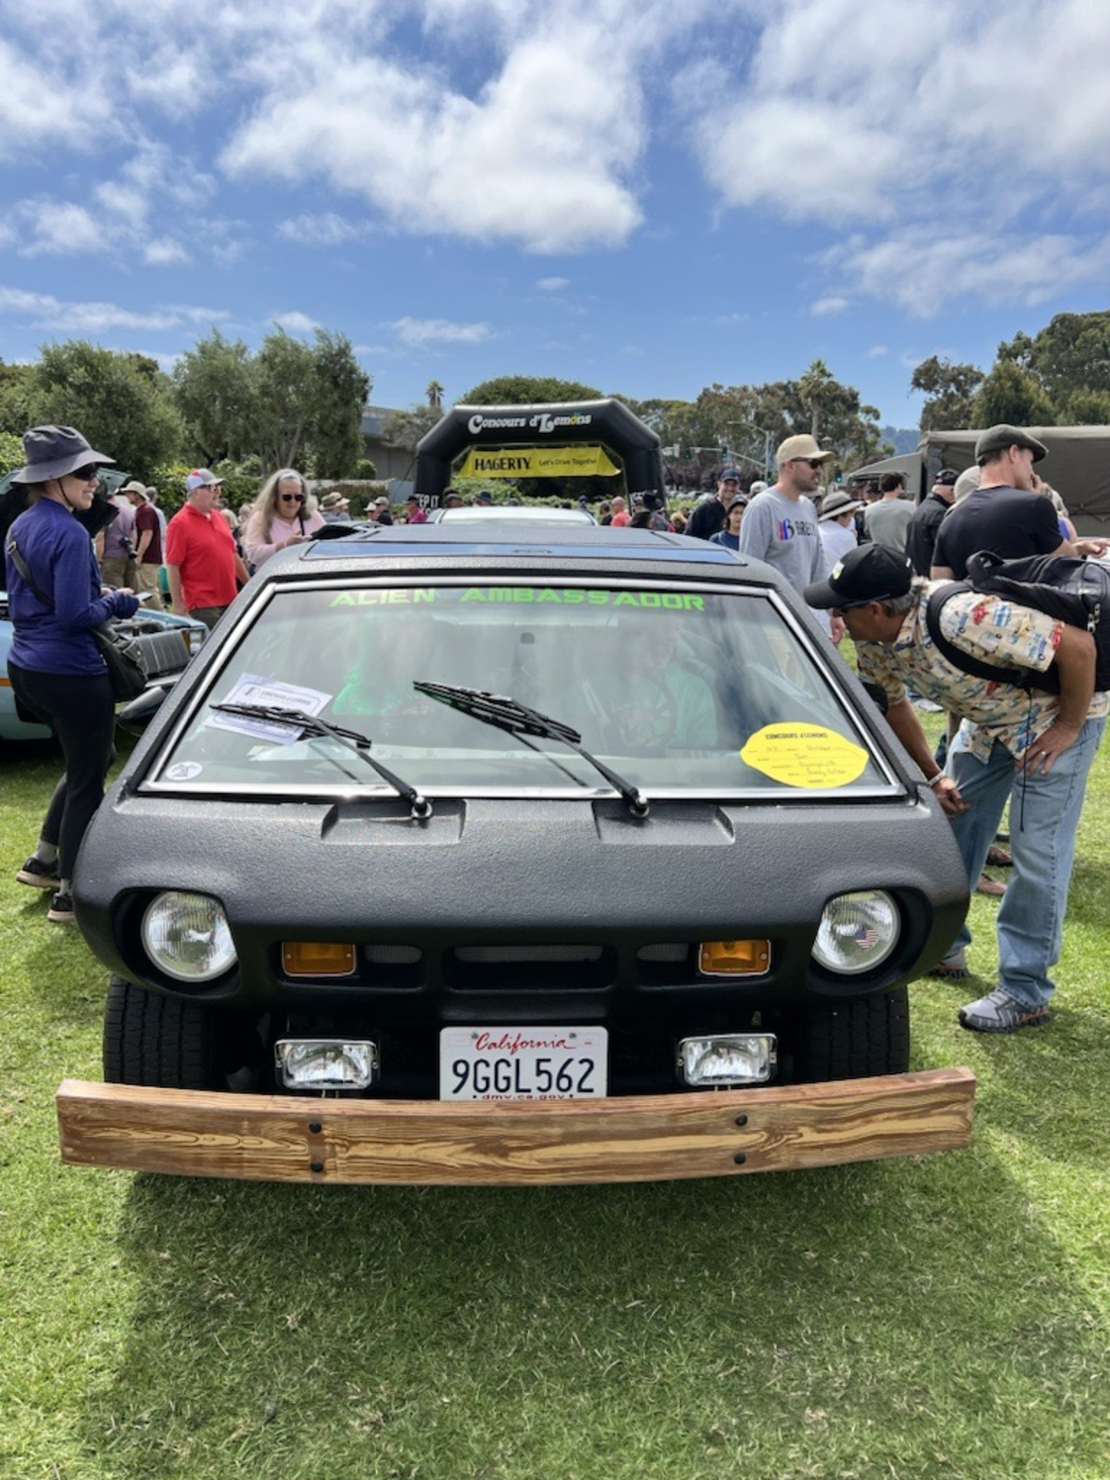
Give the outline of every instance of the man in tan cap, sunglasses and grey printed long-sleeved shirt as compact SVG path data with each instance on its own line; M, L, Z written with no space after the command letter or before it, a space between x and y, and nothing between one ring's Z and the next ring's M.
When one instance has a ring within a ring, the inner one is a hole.
M821 472L833 453L821 451L805 434L780 443L776 459L778 482L747 505L739 554L767 561L795 591L802 591L824 574L824 548L810 494L821 485ZM826 611L814 611L814 616L839 642L844 636L839 617L830 623Z

